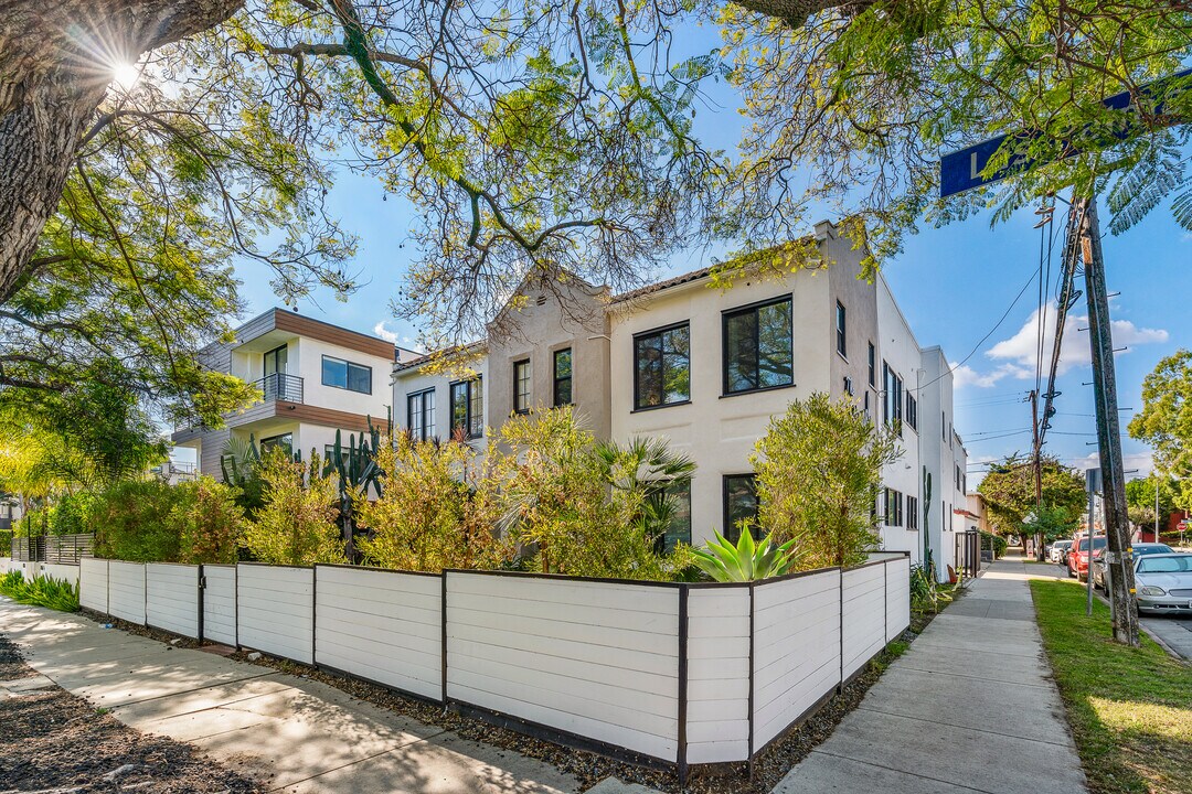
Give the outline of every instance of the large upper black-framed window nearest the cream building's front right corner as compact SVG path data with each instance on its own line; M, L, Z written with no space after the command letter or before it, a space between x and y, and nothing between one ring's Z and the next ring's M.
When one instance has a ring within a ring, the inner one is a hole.
M790 296L724 313L725 394L794 383Z

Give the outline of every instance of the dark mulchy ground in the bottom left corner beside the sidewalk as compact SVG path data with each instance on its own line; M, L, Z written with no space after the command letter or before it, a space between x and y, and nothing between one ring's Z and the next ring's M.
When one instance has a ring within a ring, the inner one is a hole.
M37 675L0 636L0 681ZM190 744L145 736L56 686L0 689L0 794L265 792Z

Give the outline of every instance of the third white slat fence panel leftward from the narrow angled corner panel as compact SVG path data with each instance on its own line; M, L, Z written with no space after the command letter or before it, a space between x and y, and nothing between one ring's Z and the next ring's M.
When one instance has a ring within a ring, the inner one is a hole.
M303 664L315 661L315 569L236 565L240 644Z

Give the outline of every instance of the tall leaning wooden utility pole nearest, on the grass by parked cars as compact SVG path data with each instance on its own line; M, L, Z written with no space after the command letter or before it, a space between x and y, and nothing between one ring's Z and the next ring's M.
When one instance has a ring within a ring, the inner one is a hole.
M1105 508L1106 565L1115 587L1113 638L1138 646L1138 607L1134 600L1134 559L1130 521L1125 504L1125 467L1122 462L1122 429L1118 420L1117 379L1113 370L1113 335L1110 301L1105 288L1105 261L1095 199L1074 199L1081 213L1081 251L1085 261L1085 293L1088 296L1088 336L1093 357L1093 393L1097 402L1097 440L1101 458L1101 504ZM1092 523L1092 515L1089 515ZM1092 532L1088 543L1088 575L1092 576Z

